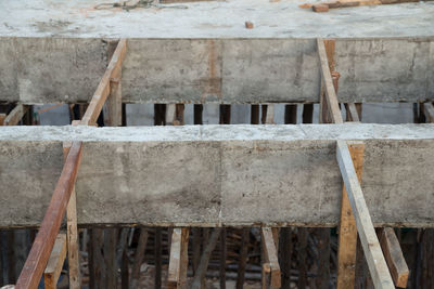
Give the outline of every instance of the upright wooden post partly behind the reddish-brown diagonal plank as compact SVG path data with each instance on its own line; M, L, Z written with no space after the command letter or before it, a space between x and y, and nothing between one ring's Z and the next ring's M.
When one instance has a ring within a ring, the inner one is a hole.
M73 121L73 126L76 122ZM63 143L63 157L66 157L71 149L71 142ZM78 229L77 229L77 197L75 186L71 193L69 201L66 207L66 235L67 235L67 253L68 253L68 270L69 270L69 288L81 288L80 283L80 264L79 264L79 248L78 248Z

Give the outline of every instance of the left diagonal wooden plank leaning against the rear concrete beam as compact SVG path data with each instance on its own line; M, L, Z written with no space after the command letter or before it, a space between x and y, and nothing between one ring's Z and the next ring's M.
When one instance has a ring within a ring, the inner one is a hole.
M125 57L126 51L127 40L120 39L112 56L112 60L110 61L107 69L105 70L105 74L102 77L100 84L98 86L97 91L92 96L92 100L90 101L88 109L86 109L85 116L82 117L80 124L94 126L97 123L102 107L104 106L104 103L108 94L111 93L111 84L114 84L116 81L120 81L122 63ZM120 86L118 88L120 89ZM116 93L114 93L113 95L115 94ZM118 110L114 111L114 114L118 114Z

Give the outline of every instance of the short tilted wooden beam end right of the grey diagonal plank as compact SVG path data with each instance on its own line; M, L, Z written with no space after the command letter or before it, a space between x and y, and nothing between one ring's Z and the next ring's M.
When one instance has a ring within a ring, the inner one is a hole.
M392 227L381 231L381 248L396 287L407 288L409 270L404 259L398 238Z

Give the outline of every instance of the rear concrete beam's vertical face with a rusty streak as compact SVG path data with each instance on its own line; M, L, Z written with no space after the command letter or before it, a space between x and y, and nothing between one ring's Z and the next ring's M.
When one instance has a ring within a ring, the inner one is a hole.
M0 101L88 102L106 43L84 38L0 38ZM340 39L341 102L434 98L432 38ZM128 103L318 102L315 39L129 39Z

